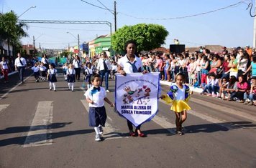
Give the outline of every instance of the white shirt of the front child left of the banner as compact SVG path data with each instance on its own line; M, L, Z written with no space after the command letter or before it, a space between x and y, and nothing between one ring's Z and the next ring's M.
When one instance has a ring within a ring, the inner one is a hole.
M101 90L96 93L92 94L93 87L88 89L84 96L86 99L91 99L93 104L89 103L89 107L103 107L104 106L104 98L106 97L106 91L103 87L100 87Z

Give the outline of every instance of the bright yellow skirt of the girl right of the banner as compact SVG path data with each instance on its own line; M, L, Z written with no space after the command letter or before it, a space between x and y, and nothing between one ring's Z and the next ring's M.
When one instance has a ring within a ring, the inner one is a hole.
M168 96L165 96L163 100L168 104L173 103L172 107L170 107L170 110L173 110L173 112L183 112L184 110L191 109L185 100L173 100Z

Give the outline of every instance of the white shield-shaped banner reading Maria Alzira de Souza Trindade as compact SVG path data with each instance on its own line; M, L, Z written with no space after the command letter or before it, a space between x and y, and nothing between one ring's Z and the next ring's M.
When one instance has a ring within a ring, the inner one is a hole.
M159 73L116 74L116 110L137 127L157 113Z

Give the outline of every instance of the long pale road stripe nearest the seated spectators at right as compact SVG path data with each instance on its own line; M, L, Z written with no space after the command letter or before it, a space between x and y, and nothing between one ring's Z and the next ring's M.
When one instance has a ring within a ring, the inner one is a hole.
M190 101L194 102L194 103L197 103L197 104L202 104L206 107L210 107L211 109L216 109L216 110L224 112L224 113L236 115L238 117L242 117L244 119L249 119L250 121L256 122L256 117L255 116L252 116L251 114L247 114L245 112L239 112L236 109L231 109L229 107L224 107L224 106L220 106L220 105L217 105L217 104L213 105L212 103L202 101L201 99L196 99L195 100L195 98L192 98L192 99L190 99Z

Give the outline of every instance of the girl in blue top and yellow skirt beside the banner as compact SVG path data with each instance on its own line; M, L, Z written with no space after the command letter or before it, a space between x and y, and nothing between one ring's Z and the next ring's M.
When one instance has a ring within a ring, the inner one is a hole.
M179 135L183 135L182 124L187 119L187 110L191 109L188 106L188 99L193 93L189 92L189 87L186 84L183 84L184 79L185 75L178 73L175 77L176 84L170 87L170 92L167 95L161 96L161 99L165 100L165 102L173 103L170 110L175 112L176 132Z

